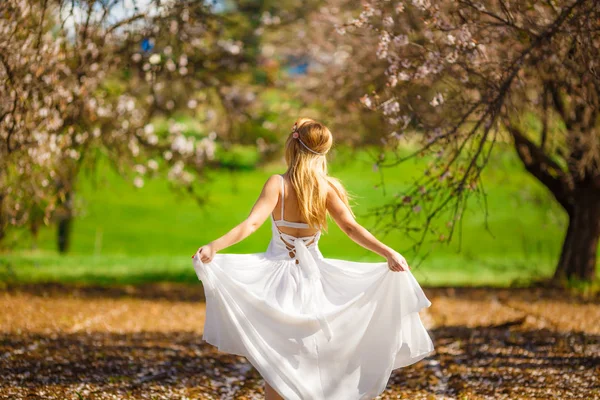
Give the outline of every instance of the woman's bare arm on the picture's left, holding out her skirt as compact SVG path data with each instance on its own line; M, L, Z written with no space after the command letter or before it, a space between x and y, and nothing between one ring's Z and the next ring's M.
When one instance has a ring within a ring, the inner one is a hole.
M279 198L279 188L281 187L281 177L279 175L271 176L258 196L258 200L252 207L250 215L241 224L227 232L215 241L202 246L196 253L202 262L212 261L215 253L229 246L232 246L246 239L254 233L273 212ZM194 258L196 254L192 256Z

